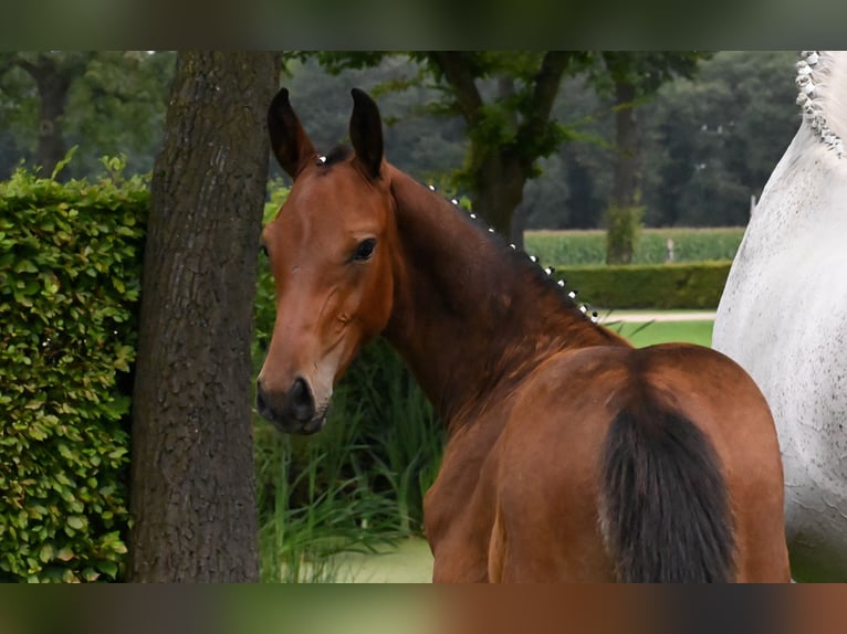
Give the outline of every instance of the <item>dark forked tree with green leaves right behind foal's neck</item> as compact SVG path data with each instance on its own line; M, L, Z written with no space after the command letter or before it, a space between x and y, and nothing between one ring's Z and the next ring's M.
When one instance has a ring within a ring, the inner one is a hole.
M320 53L331 72L379 64L388 53ZM571 130L551 120L558 87L566 74L585 68L584 52L409 53L421 73L393 88L435 81L440 93L428 104L432 113L459 115L470 145L456 183L468 191L471 205L496 231L523 243L523 226L513 224L525 183L538 176L538 159L552 155Z

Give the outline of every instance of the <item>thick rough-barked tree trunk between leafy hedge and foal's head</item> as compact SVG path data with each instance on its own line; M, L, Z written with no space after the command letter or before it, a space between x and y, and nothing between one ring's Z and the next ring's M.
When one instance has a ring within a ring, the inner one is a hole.
M180 53L156 159L133 403L128 578L258 580L253 296L274 53Z

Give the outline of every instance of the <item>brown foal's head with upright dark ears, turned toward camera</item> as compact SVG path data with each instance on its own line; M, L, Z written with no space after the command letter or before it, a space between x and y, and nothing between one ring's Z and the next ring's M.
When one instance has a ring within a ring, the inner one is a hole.
M264 228L276 285L276 323L258 381L263 416L314 433L333 387L391 313L393 199L376 104L353 91L353 151L320 157L285 88L268 113L271 145L292 177L285 204Z

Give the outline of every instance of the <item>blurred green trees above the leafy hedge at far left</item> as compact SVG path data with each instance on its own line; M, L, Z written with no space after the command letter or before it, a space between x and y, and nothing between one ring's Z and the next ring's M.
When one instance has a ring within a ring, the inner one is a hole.
M165 120L175 54L148 51L0 53L0 175L21 160L50 175L80 146L64 177L100 169L103 155L149 171Z

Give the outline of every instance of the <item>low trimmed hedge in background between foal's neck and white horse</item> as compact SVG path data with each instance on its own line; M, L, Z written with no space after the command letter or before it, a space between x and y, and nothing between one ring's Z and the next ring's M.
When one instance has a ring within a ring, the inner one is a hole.
M558 266L578 298L603 308L717 308L730 261L625 266Z

